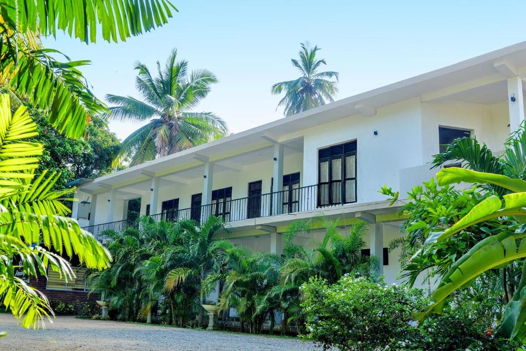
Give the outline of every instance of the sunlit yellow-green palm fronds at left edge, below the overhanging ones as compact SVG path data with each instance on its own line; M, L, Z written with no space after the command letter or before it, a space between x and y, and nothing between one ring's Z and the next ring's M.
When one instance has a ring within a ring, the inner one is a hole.
M15 269L35 278L38 273L46 278L52 269L67 280L75 274L63 254L75 254L95 269L109 267L112 260L92 234L64 217L69 209L60 202L74 189L50 190L57 176L35 175L42 145L27 141L35 135L26 107L12 113L9 95L0 95L0 302L26 328L45 326L53 310L44 294L15 276Z

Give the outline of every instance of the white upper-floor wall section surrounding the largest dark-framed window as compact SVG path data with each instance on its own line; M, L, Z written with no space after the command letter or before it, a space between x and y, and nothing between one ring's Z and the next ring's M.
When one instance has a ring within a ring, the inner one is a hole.
M304 185L318 182L318 149L357 140L359 203L385 199L378 193L380 186L397 189L400 169L422 164L418 99L379 108L376 116L355 115L318 125L304 135Z

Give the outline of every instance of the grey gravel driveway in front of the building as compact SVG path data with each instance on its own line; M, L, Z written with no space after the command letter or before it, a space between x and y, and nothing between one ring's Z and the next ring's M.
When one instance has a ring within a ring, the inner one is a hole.
M0 350L312 350L296 338L210 332L75 317L57 317L47 329L27 330L0 314Z

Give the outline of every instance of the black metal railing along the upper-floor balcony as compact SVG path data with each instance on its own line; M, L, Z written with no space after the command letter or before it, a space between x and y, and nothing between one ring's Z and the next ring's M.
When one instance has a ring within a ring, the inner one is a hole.
M150 217L156 221L191 218L197 222L204 222L209 216L218 216L223 218L225 222L235 222L243 219L306 212L318 208L342 205L339 202L341 196L340 194L337 195L332 196L332 194L329 194L329 187L325 184L310 185L238 199L215 200L209 205L177 209L150 215ZM99 241L103 241L106 239L105 235L103 235L104 230L113 229L120 231L129 225L131 223L128 220L119 220L117 222L84 227L83 229L93 233Z

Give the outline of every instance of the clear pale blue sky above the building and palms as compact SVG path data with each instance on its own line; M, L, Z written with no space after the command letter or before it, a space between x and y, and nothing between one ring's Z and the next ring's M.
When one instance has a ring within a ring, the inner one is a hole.
M44 44L83 69L99 98L135 92L134 63L154 68L171 49L190 68L219 78L198 111L227 121L231 132L274 121L274 83L297 78L290 58L299 43L320 46L327 69L340 73L337 99L400 81L526 40L526 2L356 0L173 0L169 23L125 43L86 45L65 35ZM112 122L120 139L139 125Z

